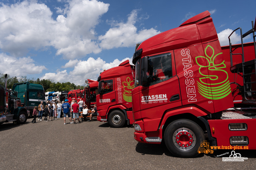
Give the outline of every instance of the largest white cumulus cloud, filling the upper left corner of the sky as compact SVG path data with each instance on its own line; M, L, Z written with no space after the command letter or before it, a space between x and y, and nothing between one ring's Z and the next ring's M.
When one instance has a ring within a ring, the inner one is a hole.
M89 53L99 53L94 27L109 4L97 0L67 1L66 15L56 20L46 4L22 1L0 6L0 48L12 56L26 55L29 49L53 46L56 55L75 59ZM58 9L61 11L62 9ZM64 10L62 10L64 11ZM65 17L66 16L66 17Z

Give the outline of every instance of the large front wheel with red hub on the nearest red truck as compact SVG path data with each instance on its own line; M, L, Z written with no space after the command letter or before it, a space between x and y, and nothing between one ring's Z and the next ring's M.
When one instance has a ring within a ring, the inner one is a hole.
M204 132L194 121L180 119L170 123L164 131L166 147L174 156L192 158L197 156Z

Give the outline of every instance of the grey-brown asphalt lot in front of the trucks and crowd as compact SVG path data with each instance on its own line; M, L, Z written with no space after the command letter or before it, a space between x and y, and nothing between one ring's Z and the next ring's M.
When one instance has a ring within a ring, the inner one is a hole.
M255 150L236 150L243 162L224 162L232 150L176 158L164 144L142 144L134 140L131 126L112 128L107 122L70 124L63 118L24 125L0 125L1 170L170 170L240 169L256 167ZM229 152L229 153L227 153ZM220 156L222 155L222 156Z

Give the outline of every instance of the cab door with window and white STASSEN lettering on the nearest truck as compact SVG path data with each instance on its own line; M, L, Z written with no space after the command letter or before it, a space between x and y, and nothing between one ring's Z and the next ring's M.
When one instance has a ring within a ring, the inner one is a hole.
M143 60L146 59L148 66L147 72L142 75L142 83L146 77L147 84L140 87L141 117L145 131L157 131L164 112L182 105L179 79L176 75L173 51L144 58L142 67Z

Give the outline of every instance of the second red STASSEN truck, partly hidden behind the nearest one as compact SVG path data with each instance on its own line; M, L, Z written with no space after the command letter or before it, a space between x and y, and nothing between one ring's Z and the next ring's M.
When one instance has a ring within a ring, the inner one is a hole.
M126 60L110 68L98 77L96 96L98 121L108 121L112 127L123 127L134 123L132 116L132 89L134 88L134 66Z

